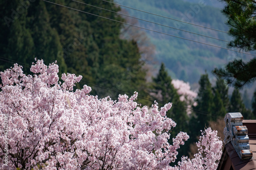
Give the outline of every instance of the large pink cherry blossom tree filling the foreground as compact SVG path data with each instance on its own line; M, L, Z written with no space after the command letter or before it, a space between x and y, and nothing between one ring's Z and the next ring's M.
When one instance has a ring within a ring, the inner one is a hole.
M169 166L189 137L180 132L167 142L176 126L166 117L171 103L159 109L155 102L148 111L136 102L137 92L113 101L90 95L87 85L73 91L82 77L59 80L56 63L37 60L30 70L25 75L14 64L1 72L0 169L178 169L220 159L222 142L207 129L198 144L210 147L199 148L205 158L199 153Z

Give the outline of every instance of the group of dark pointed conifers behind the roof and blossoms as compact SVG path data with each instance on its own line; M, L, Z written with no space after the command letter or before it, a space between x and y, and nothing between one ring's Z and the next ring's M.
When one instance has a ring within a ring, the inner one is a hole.
M183 150L179 151L182 154L187 155L190 144L197 141L200 129L209 127L209 124L217 122L217 119L224 118L228 112L241 112L244 119L256 118L256 91L253 95L251 110L245 107L246 103L244 103L239 89L234 88L231 96L229 96L229 88L225 80L217 79L216 84L212 86L208 74L205 73L199 80L200 87L198 96L195 99L196 105L192 105L191 110L193 111L188 115L186 111L187 104L180 100L180 94L177 93L177 89L174 88L171 82L172 78L168 76L167 70L162 63L156 78L153 78L151 90L154 95L152 97L161 101L159 106L164 106L168 102L174 104L173 108L166 113L179 125L172 131L172 134L175 135L179 131L185 131L189 135L188 141L182 148ZM245 95L247 95L246 92ZM244 99L248 101L248 96L245 96Z

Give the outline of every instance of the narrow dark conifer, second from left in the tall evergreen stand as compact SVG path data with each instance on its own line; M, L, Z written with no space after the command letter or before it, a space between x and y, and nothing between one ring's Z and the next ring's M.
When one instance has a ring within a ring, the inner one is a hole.
M33 55L37 59L44 59L45 63L57 61L60 72L67 72L67 65L62 55L57 57L62 50L59 35L50 25L49 13L45 2L35 1L28 8L27 28L30 29L34 40Z

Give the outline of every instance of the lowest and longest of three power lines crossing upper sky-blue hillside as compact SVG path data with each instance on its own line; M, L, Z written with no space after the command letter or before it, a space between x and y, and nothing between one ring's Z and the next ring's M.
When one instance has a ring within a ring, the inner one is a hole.
M45 2L48 2L48 3L51 3L51 4L55 4L55 5L58 5L58 6L61 6L61 7L69 8L69 9L72 9L72 10L75 10L75 11L79 11L79 12L82 12L82 13L86 13L86 14L90 14L90 15L97 16L97 17L101 17L101 18L104 18L104 19L109 19L109 20L112 20L112 21L116 21L116 22L119 22L119 23L123 23L123 24L125 24L125 25L137 27L137 28L140 28L140 29L144 29L144 30L148 30L148 31L152 31L152 32L156 32L156 33L160 33L160 34L164 34L164 35L168 35L168 36L172 36L172 37L176 37L176 38L180 38L180 39L192 41L192 42L197 42L197 43L201 43L201 44L205 44L205 45L209 45L209 46L214 46L214 47L222 48L222 49L229 50L229 51L233 51L233 52L237 52L237 53L242 53L242 54L247 54L247 55L251 55L251 56L256 56L256 55L254 55L254 54L245 53L245 52L240 52L240 51L237 51L237 50L232 50L232 49L225 48L225 47L218 46L218 45L208 44L208 43L205 43L205 42L200 42L200 41L196 41L196 40L191 40L191 39L188 39L188 38L183 38L183 37L175 36L175 35L172 35L172 34L167 34L167 33L163 33L163 32L160 32L160 31L155 31L155 30L151 30L151 29L147 29L147 28L135 26L135 25L132 25L132 24L130 24L130 23L125 23L125 22L122 22L122 21L119 21L119 20L115 20L115 19L111 19L111 18L104 17L104 16L92 14L92 13L89 13L89 12L86 12L86 11L81 11L81 10L78 10L78 9L75 9L75 8L67 7L67 6L65 6L65 5L60 5L60 4L57 4L57 3L50 2L50 1L46 1L46 0L42 0L42 1L45 1ZM102 1L103 1L103 0L102 0Z

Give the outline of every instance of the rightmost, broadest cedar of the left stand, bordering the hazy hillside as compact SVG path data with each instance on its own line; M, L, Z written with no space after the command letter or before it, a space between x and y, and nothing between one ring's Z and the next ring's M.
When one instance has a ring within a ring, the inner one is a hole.
M119 7L100 0L84 2L115 12L120 10ZM104 11L90 6L84 6L83 10L96 15L124 21L120 15L110 11ZM119 93L131 94L134 91L138 91L140 95L146 95L146 71L143 69L144 63L140 60L141 55L137 42L120 39L122 24L93 15L84 15L83 13L80 13L80 16L82 19L87 19L90 22L92 28L91 36L99 48L98 67L94 72L94 76L96 77L95 82L106 88L112 88L111 91L98 88L94 94L97 94L99 97L110 95L114 98Z

